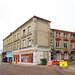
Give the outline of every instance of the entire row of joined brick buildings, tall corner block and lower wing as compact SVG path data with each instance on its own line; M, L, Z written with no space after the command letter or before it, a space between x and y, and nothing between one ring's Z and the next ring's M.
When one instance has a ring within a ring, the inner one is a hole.
M3 39L3 60L40 64L41 58L75 59L75 33L50 28L51 21L33 16Z

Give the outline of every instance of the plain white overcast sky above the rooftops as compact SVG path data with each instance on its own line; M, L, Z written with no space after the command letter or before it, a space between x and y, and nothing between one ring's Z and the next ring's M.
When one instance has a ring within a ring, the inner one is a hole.
M0 0L0 49L3 39L34 15L51 21L53 29L75 30L75 0Z

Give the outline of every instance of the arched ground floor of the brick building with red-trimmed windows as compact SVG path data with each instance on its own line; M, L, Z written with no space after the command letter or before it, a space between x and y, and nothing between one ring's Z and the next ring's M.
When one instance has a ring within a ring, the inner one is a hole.
M75 51L64 51L64 52L61 52L61 51L56 51L55 53L55 59L56 60L73 60L75 59Z

